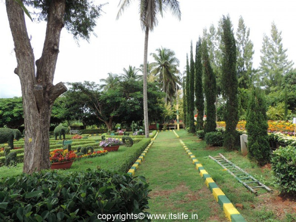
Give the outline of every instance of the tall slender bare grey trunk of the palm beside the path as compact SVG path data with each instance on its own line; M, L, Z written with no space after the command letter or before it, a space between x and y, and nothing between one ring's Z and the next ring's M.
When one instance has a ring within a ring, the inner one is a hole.
M148 103L147 103L148 36L149 36L149 27L146 27L145 43L144 43L144 74L143 74L144 122L145 122L145 136L146 136L146 138L149 138L149 120L148 120Z

